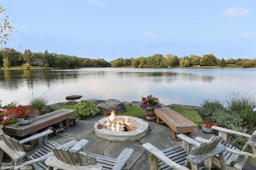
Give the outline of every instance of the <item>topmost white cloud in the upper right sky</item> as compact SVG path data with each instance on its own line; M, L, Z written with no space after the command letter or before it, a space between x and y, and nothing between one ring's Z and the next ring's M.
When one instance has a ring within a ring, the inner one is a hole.
M250 10L244 9L242 7L228 8L222 13L222 16L231 17L231 18L241 18L246 17L251 13Z

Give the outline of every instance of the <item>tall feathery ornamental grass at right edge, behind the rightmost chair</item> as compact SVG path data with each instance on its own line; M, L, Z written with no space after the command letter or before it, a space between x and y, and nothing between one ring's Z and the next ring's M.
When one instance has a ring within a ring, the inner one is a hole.
M227 109L232 113L238 113L243 118L244 124L248 126L256 125L256 115L253 111L253 105L256 103L252 96L233 92L226 101Z

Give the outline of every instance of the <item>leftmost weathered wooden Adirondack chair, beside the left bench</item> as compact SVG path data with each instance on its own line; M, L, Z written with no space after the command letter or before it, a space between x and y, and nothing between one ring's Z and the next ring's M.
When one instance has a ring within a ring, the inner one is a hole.
M14 166L22 167L31 165L35 170L47 170L48 167L44 164L44 160L53 155L52 149L54 147L61 146L56 142L47 141L47 135L51 133L53 133L53 131L48 130L18 141L17 139L5 135L4 132L0 130L0 166L2 164L4 152L6 152L6 154L14 160ZM34 149L31 145L24 145L35 139L38 139L38 145ZM70 148L76 143L77 141L74 140L66 143L64 147ZM26 149L29 148L28 151L25 151L24 147L26 147Z

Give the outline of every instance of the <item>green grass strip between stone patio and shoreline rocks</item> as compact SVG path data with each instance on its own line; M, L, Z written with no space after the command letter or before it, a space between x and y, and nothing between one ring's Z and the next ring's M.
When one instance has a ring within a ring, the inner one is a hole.
M51 107L51 109L52 109L52 111L56 111L59 109L74 109L74 105ZM201 127L201 124L204 123L203 119L198 114L197 110L184 109L184 108L180 108L180 107L172 107L171 109L173 109L180 115L186 117L188 120L196 123L198 125L198 127ZM145 112L145 110L143 110L139 107L126 106L126 111L123 113L120 113L119 115L141 117L141 116L145 116L146 112ZM72 118L76 118L76 117L78 117L78 115L75 115Z

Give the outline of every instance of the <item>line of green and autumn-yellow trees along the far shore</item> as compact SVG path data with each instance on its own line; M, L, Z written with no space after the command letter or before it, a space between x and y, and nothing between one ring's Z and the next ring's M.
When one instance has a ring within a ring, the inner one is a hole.
M30 66L40 66L42 68L78 68L78 67L134 67L134 68L168 68L168 67L189 67L189 66L221 66L227 65L242 66L245 68L255 67L256 59L218 59L213 54L206 54L202 57L190 55L178 57L177 55L155 54L148 57L138 57L136 59L118 58L113 61L104 59L88 59L76 56L62 55L56 53L35 53L25 50L24 53L11 48L0 50L0 66L10 68L11 66L24 66L29 69Z

